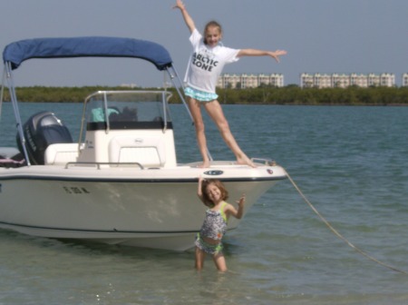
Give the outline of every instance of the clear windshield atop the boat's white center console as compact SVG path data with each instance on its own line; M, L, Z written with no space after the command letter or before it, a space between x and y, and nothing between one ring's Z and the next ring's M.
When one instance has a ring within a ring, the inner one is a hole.
M163 128L163 123L171 121L170 96L164 91L100 91L86 98L83 119L88 130L101 125L110 129Z

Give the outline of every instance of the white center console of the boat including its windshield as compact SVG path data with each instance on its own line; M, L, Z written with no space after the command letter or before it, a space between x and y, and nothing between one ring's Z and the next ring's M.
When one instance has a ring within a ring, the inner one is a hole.
M86 98L78 162L176 166L168 92L101 91Z

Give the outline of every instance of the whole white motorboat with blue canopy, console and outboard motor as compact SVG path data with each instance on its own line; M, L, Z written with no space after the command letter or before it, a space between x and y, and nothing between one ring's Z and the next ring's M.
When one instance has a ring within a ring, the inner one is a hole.
M200 162L178 163L166 90L92 93L84 99L81 133L75 142L54 113L34 113L22 123L13 71L30 58L81 56L147 60L170 76L180 94L180 79L160 44L112 37L8 44L3 54L5 86L18 137L15 148L0 149L0 228L48 238L185 251L193 247L204 217L197 197L200 175L224 182L231 201L246 193L245 212L287 178L285 170L268 159L254 159L257 168L234 161L212 161L204 169ZM14 156L18 153L23 158ZM231 219L228 230L238 223Z

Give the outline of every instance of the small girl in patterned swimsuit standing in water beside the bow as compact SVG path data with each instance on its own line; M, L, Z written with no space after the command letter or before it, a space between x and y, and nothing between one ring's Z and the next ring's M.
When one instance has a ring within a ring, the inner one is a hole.
M229 216L241 219L244 214L245 194L238 201L238 210L225 202L228 199L228 191L219 180L204 180L199 177L197 191L199 199L209 209L196 239L196 269L202 270L206 254L212 255L212 259L219 271L227 271L227 264L222 253L222 237L227 231Z

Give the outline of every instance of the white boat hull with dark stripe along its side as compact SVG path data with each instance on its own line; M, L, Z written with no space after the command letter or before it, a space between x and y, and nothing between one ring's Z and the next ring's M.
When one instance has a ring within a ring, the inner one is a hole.
M231 203L246 193L245 212L285 179L279 166L1 169L0 227L42 237L185 251L193 247L205 214L197 197L200 175L224 182ZM231 219L228 229L238 223Z

